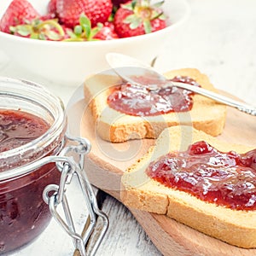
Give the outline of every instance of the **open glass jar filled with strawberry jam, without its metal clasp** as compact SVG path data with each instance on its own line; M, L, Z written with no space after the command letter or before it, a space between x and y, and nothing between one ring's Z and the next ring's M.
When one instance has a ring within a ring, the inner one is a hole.
M61 101L28 81L0 78L0 254L36 238L49 224L44 188L58 184L55 163L32 168L66 144Z

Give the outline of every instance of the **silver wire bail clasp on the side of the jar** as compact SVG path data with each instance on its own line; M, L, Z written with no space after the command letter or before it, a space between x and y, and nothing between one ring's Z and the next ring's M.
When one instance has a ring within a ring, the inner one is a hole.
M84 155L90 152L90 142L81 137L73 138L67 135L66 137L67 140L71 142L71 145L63 148L59 157L56 157L58 158L56 166L61 172L60 183L59 185L49 184L46 186L43 198L49 205L49 212L51 212L57 223L59 223L67 234L72 237L74 247L79 250L79 253L82 256L92 256L95 255L97 248L108 230L108 216L99 209L96 196L84 171ZM67 156L69 153L77 154L79 161L76 162L73 160L73 156ZM66 196L67 185L72 182L74 175L79 179L79 185L83 192L86 207L89 212L89 216L86 221L86 224L88 225L86 230L83 232L84 234L78 234L75 229ZM50 196L49 193L51 194ZM57 207L59 205L61 205L63 209L65 219L61 218L61 215L57 212ZM87 252L86 246L90 236L94 233L97 217L102 218L102 230L99 235L97 234L97 239L90 247L90 252Z

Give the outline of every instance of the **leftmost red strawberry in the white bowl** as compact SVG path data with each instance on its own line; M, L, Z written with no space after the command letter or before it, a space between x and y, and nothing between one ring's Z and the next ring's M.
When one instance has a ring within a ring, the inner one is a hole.
M26 0L13 0L0 20L0 31L9 33L9 26L24 24L39 17L36 9Z

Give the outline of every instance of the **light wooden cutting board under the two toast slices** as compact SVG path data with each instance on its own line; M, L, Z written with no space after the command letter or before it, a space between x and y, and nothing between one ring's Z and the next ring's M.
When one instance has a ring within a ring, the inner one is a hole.
M108 143L97 137L90 111L84 101L78 102L69 109L68 113L70 132L88 138L92 145L85 163L90 183L120 201L122 173L154 145L154 140ZM224 132L219 138L230 143L242 143L256 148L256 117L228 108ZM164 215L130 210L154 245L164 255L256 255L256 248L244 249L231 246Z

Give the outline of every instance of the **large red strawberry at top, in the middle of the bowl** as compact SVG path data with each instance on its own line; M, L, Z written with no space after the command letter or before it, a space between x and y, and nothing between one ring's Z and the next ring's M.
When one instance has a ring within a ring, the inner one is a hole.
M66 26L79 25L79 16L84 13L91 26L98 22L104 23L112 13L111 0L57 0L57 14L60 21Z

